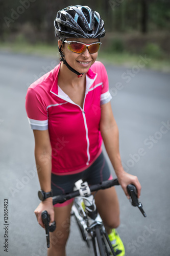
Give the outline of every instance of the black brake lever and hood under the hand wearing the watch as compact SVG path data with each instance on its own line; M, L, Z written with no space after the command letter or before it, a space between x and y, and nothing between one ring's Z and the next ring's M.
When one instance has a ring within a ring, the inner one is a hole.
M50 215L46 210L42 211L41 213L42 222L45 225L45 235L46 235L46 246L47 248L50 247L50 232L53 232L56 229L56 222L54 221L51 226L50 223Z

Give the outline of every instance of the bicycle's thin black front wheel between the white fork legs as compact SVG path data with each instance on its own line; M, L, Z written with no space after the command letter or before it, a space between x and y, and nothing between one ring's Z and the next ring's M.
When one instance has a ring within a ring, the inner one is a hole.
M99 226L94 228L95 237L92 239L95 256L106 256L103 244L103 236Z

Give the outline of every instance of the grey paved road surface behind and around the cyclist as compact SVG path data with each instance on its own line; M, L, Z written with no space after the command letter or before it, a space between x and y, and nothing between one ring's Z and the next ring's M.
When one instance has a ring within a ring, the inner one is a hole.
M25 95L29 84L55 65L55 56L47 59L0 52L0 254L3 256L46 255L45 233L33 213L39 203L36 196L39 183ZM122 221L118 231L127 256L168 256L170 75L137 65L129 71L106 65L122 161L127 172L137 175L141 182L141 201L148 215L143 218L117 187ZM8 253L3 248L5 198L9 200ZM92 255L72 219L67 255L80 253Z

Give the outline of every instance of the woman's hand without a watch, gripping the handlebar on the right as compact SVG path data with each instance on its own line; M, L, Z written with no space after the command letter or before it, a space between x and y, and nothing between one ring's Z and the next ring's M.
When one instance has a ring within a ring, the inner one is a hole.
M136 176L128 174L124 171L123 173L117 175L117 179L118 179L119 184L124 189L125 194L126 194L128 199L130 199L130 196L129 196L128 191L127 191L127 185L129 185L129 184L133 184L133 185L136 186L137 197L138 198L140 197L141 185L140 185L140 183L138 181L138 178Z

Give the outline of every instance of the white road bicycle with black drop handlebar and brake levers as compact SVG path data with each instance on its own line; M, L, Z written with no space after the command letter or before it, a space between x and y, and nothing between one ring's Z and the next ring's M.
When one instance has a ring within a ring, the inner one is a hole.
M75 198L71 208L71 215L75 216L76 222L82 234L82 239L90 246L92 241L93 251L95 256L116 256L113 247L108 238L103 221L96 209L94 195L92 192L97 192L99 189L106 189L114 185L119 185L118 180L104 181L100 184L88 186L87 182L79 180L75 183L75 191L69 194L53 197L53 204L63 203L71 198ZM130 201L133 206L137 206L144 217L145 214L142 204L138 201L136 187L132 184L127 186ZM44 218L45 216L45 218ZM48 226L50 217L47 211L42 212L42 220L45 224L47 247L50 247L49 231L55 230L55 222L52 226Z

